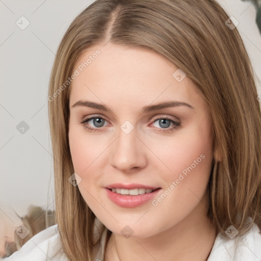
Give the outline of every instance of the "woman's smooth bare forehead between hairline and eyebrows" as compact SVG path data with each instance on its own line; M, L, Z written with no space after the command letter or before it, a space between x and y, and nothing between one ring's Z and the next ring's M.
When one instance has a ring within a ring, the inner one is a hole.
M166 99L199 102L203 106L193 82L188 77L178 82L174 77L178 68L150 50L109 43L96 45L77 59L75 70L79 75L70 85L70 105L88 98L121 106L131 102L128 105L134 107Z

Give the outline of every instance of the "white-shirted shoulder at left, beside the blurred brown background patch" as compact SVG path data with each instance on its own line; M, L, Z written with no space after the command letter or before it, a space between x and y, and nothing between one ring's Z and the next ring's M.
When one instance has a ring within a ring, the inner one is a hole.
M9 257L0 259L3 261L45 261L61 260L68 261L62 251L58 226L53 225L37 233L20 250L14 252Z

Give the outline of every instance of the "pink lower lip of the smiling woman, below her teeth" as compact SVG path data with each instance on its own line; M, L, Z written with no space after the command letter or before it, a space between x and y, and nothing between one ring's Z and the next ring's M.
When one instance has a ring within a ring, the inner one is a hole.
M150 193L140 194L140 195L121 195L116 192L112 192L109 189L107 190L108 197L114 202L116 205L121 207L136 207L142 204L145 204L149 200L152 200L161 189L157 189Z

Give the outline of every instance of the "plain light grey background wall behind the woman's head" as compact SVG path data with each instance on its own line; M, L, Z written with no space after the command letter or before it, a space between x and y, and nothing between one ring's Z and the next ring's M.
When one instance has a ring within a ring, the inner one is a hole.
M0 216L8 217L12 225L18 221L12 207L21 216L30 204L55 207L48 81L63 34L92 2L0 0ZM218 2L239 21L237 28L261 79L261 36L253 5L240 0ZM16 25L21 16L30 21L24 30ZM24 134L16 128L21 121L29 125Z

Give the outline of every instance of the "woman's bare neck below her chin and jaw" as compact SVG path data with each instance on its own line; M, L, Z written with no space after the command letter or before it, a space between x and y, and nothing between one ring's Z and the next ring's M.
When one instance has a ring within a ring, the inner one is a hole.
M124 238L112 233L105 261L165 260L205 261L217 236L216 227L206 217L202 202L183 220L149 238Z

